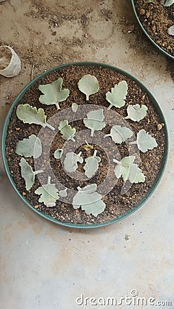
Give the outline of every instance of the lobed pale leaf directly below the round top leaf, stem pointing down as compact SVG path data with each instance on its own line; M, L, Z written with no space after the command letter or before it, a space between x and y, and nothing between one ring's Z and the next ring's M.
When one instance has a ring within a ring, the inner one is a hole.
M103 110L98 109L97 111L90 111L87 113L87 118L83 119L85 126L91 129L91 137L94 136L95 130L105 128L106 124L103 122L104 117Z

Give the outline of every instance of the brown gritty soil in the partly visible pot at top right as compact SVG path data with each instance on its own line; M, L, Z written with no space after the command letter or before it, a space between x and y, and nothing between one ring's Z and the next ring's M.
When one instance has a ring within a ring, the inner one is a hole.
M138 18L146 33L165 52L174 57L174 36L168 34L174 25L174 4L164 7L160 0L134 0Z

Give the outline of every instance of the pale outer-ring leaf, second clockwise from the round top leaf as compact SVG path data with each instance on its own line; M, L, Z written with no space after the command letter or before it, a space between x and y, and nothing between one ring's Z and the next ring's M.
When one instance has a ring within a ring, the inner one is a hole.
M142 104L140 106L139 104L135 105L129 105L127 107L127 117L125 119L131 119L133 122L140 122L141 119L143 119L146 116L146 111L148 108L146 105Z

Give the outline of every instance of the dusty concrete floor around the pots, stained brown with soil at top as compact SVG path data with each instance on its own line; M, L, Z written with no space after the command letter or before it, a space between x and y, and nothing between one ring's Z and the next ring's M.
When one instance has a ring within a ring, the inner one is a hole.
M173 63L147 41L128 0L9 0L0 3L0 43L21 58L21 73L0 77L0 129L23 86L50 67L92 60L120 67L141 80L159 102L170 137L164 176L134 214L101 229L59 227L29 209L12 189L0 161L1 309L113 308L98 297L171 301L174 308L174 87ZM124 33L125 26L135 25ZM137 295L135 293L135 295ZM90 301L76 298L95 297ZM133 303L134 299L134 303ZM92 302L92 301L91 301ZM87 306L86 306L87 304ZM134 306L135 304L135 306ZM162 303L164 304L164 303Z

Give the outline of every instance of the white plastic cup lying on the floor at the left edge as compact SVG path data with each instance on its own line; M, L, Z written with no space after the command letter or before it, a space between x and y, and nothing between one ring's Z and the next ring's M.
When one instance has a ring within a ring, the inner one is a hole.
M0 46L0 74L11 78L21 71L21 60L12 47Z

